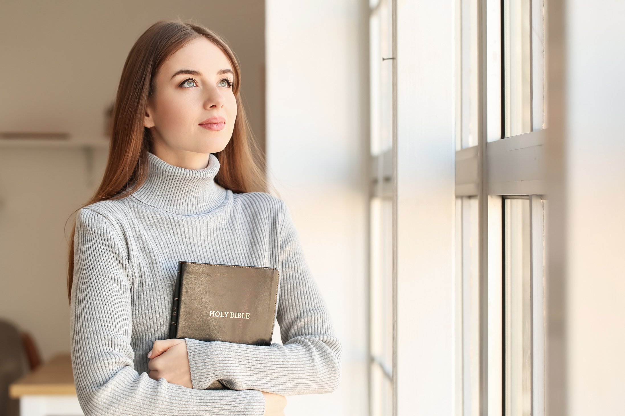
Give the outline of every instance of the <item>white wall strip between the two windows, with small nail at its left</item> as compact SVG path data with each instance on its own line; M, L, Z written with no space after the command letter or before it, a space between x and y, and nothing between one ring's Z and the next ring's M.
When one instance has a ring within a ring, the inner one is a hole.
M454 414L454 2L397 2L397 415Z

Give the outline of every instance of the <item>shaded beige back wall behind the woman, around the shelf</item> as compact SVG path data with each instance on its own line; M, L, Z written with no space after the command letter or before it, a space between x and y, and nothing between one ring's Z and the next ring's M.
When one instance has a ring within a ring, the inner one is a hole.
M264 2L0 2L0 131L103 138L124 60L151 24L196 19L236 52L252 129L264 145ZM0 319L42 359L69 351L66 220L93 195L107 151L0 147ZM64 230L64 227L66 230Z

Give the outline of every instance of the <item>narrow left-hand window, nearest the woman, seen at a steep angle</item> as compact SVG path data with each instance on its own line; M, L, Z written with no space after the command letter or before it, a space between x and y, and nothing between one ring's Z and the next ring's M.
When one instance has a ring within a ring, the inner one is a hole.
M371 191L369 192L369 414L394 405L392 279L392 2L371 1Z

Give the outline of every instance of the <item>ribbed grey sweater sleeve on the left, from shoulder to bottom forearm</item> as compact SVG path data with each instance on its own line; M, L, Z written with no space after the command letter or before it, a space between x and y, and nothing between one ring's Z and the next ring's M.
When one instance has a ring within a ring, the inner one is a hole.
M258 390L189 389L138 374L131 347L131 284L121 233L106 216L81 208L74 234L70 332L74 384L86 416L264 414Z

